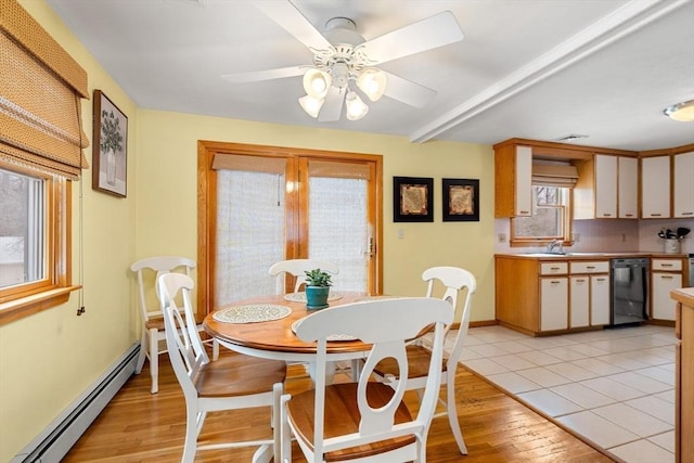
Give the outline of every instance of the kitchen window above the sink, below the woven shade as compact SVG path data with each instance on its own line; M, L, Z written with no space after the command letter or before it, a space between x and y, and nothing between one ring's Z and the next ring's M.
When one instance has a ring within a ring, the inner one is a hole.
M526 245L552 240L569 241L570 190L534 185L532 200L532 216L511 219L512 241Z

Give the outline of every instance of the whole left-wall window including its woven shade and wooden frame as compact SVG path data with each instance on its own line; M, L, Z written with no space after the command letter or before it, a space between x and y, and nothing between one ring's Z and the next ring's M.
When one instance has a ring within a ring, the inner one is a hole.
M67 301L87 73L17 2L0 9L0 324Z

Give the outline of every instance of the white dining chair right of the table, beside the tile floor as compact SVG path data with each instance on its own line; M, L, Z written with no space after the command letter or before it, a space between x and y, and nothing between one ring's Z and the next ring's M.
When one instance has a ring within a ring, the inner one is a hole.
M444 294L440 298L449 303L451 313L455 313L458 295L465 291L460 326L455 333L451 352L446 356L446 361L441 363L441 383L446 384L446 400L439 399L439 402L445 408L445 411L435 414L434 417L448 415L448 423L458 443L458 449L461 454L466 455L467 448L460 428L458 409L455 407L455 371L465 345L465 337L467 336L472 298L477 288L477 283L470 271L458 267L429 268L422 273L422 280L428 282L426 297L433 297L435 287L442 285ZM447 324L445 329L446 336L448 336L450 329L451 324ZM421 395L421 390L426 386L428 380L432 352L423 343L412 343L408 346L407 353L410 365L407 388L409 390L417 390ZM378 364L374 371L374 376L393 387L398 387L400 383L397 364L391 359L386 359Z

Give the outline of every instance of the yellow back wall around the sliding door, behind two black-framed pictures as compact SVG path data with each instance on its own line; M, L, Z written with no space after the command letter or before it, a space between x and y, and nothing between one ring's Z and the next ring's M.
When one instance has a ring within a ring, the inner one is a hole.
M197 140L381 154L384 158L384 292L422 295L422 271L470 269L478 280L472 320L493 314L493 152L476 144L410 143L406 138L317 130L140 110L137 255L194 256ZM433 223L393 222L393 177L433 177ZM479 222L444 222L441 178L480 179ZM169 211L163 205L171 207ZM398 239L398 230L404 232ZM175 231L171 233L171 231ZM167 236L168 234L168 236Z

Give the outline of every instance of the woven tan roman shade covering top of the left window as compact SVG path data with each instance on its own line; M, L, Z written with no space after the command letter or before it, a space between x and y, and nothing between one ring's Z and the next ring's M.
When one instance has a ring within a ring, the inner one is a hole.
M87 73L15 0L0 0L0 157L78 179Z

